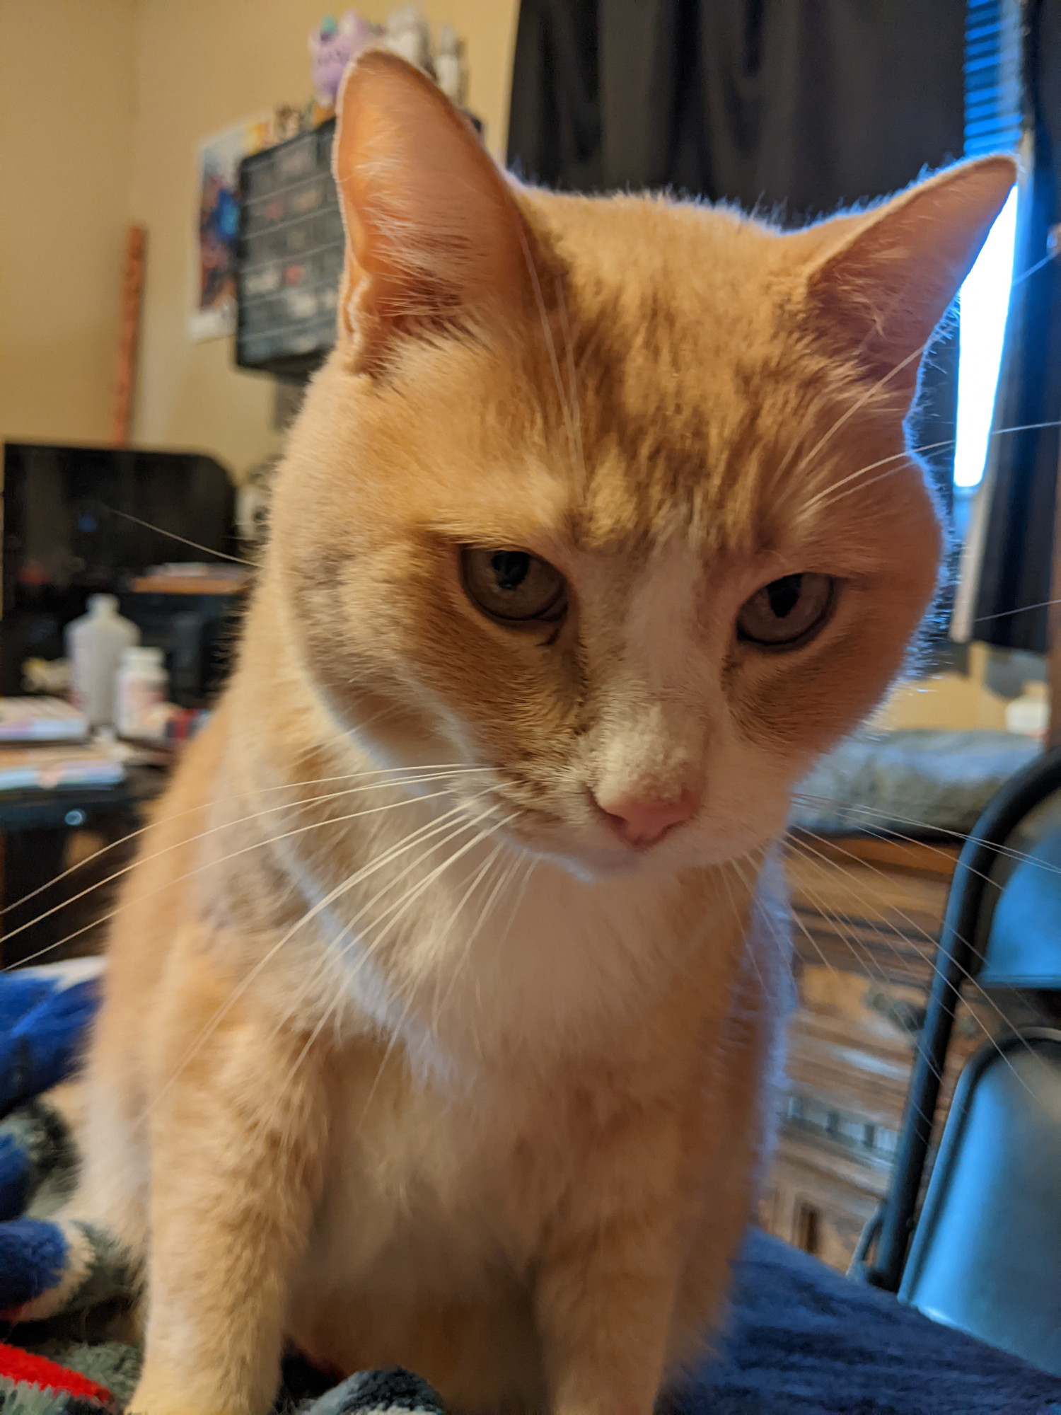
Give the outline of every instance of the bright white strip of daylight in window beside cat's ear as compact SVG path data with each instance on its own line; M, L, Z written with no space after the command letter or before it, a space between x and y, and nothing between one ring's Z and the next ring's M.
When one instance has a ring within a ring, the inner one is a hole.
M963 491L980 484L987 460L1002 340L1006 333L1006 311L1013 283L1016 235L1017 188L1014 187L961 290L953 484Z

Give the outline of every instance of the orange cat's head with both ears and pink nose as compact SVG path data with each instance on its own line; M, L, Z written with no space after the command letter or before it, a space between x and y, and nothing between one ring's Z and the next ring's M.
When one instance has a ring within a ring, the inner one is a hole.
M314 692L382 764L491 767L467 795L576 869L765 843L932 597L903 420L1013 163L796 233L557 197L369 54L335 170L340 342L272 550Z

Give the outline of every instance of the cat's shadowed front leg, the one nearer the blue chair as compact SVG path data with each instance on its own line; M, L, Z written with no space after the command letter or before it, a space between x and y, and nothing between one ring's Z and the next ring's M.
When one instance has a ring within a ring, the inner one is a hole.
M552 1415L651 1415L679 1285L675 1133L601 1145L542 1255L535 1309ZM652 1159L647 1163L647 1156Z

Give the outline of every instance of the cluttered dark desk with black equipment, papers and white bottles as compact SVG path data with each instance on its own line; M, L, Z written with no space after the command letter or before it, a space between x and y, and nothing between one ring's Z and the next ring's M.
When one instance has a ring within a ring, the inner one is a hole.
M91 951L122 841L225 681L250 569L211 457L8 443L3 962ZM100 856L99 865L93 856ZM24 903L23 903L24 901Z

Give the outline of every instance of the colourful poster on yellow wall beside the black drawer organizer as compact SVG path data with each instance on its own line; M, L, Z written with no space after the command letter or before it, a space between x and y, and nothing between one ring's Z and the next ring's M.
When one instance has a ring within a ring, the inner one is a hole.
M194 340L216 340L236 328L239 164L272 142L272 119L245 119L199 143L199 208Z

